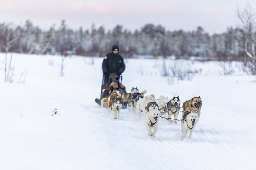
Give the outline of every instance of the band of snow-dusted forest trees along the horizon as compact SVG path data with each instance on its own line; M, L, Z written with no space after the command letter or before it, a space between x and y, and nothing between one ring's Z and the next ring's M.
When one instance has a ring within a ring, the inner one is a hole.
M226 32L210 35L198 26L193 31L170 31L164 26L146 24L141 29L128 31L121 25L112 30L104 26L90 29L70 29L65 20L59 26L42 30L30 20L14 26L0 23L0 51L11 42L8 52L30 54L58 54L81 56L104 56L111 46L118 44L125 57L136 55L204 57L209 60L242 60L245 31L227 28ZM240 56L240 57L239 57Z

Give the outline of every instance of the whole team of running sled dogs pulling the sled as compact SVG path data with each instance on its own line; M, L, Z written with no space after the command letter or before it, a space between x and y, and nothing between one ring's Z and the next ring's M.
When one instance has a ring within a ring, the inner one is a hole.
M132 87L131 93L125 93L121 95L119 91L110 92L108 97L101 100L101 106L106 106L107 110L112 113L114 119L119 118L120 110L124 105L124 102L128 102L129 111L137 113L139 116L143 113L146 118L146 128L149 136L155 138L157 131L159 117L167 115L170 123L177 123L176 118L180 111L180 99L179 96L173 97L171 100L168 97L160 96L158 100L155 99L155 95L144 96L147 91L144 90L141 93L138 88ZM193 130L199 120L202 101L200 96L193 97L183 103L182 106L182 119L181 127L183 138L190 130L188 138L191 137ZM174 115L174 116L173 116ZM171 118L173 116L173 118ZM153 132L151 130L153 129Z

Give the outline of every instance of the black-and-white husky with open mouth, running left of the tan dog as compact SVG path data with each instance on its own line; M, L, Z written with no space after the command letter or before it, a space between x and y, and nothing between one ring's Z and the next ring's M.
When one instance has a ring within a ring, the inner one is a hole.
M167 108L168 108L168 118L171 118L171 115L174 115L174 119L177 119L179 111L180 111L181 101L179 96L174 97L168 102ZM174 119L168 119L171 123L174 122ZM177 121L175 120L175 123Z

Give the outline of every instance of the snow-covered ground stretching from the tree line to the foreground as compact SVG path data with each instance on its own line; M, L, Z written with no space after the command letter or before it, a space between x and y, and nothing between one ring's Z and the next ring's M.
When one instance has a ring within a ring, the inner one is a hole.
M160 119L156 138L143 116L122 109L114 120L94 99L102 58L13 54L14 83L4 83L0 53L0 170L253 170L256 167L256 77L218 62L177 62L201 71L192 81L160 76L162 60L126 59L123 84L181 102L200 96L191 139L180 122ZM92 64L94 62L94 64ZM167 60L166 66L174 61ZM17 83L26 71L26 83ZM52 111L57 108L57 115ZM178 119L181 118L179 114Z

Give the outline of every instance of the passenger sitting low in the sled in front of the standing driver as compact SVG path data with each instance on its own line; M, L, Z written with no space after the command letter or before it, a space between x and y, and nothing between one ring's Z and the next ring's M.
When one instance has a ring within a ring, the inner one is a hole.
M125 86L122 85L118 80L118 76L115 73L111 73L109 76L109 82L105 83L101 86L101 91L103 92L101 95L101 99L107 97L114 89L118 90L121 94L126 93Z

